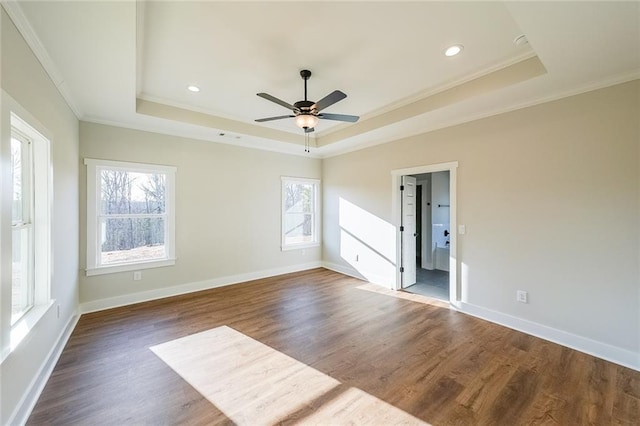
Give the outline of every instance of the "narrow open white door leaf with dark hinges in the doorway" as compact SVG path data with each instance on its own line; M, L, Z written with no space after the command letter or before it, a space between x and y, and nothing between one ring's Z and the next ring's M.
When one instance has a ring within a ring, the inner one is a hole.
M402 288L416 283L416 178L402 176Z

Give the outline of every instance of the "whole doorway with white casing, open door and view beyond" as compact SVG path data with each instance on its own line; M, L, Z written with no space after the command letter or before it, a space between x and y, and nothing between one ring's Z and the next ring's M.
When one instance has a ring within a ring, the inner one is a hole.
M398 229L396 290L457 305L457 162L392 171ZM406 192L406 188L413 188Z

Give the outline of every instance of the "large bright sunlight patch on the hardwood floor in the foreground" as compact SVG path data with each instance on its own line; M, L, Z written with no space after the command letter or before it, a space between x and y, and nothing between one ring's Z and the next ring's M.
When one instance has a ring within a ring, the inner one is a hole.
M227 326L150 349L239 425L427 424Z

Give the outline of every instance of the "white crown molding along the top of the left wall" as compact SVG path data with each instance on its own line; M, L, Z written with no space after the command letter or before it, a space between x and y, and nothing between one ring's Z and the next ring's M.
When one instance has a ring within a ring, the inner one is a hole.
M58 67L56 67L55 63L51 59L51 56L49 55L49 52L44 47L44 44L42 44L42 42L40 41L40 38L29 23L29 20L25 16L24 12L22 11L22 8L19 4L20 2L16 0L2 0L1 2L4 10L7 11L7 14L18 29L18 32L20 33L20 35L22 35L27 45L31 48L36 58L38 58L38 61L42 65L42 68L44 68L44 71L53 82L53 85L56 86L58 92L60 92L60 95L69 106L69 109L71 109L78 120L81 119L82 111L80 110L80 108L78 108L77 104L71 97L71 92L69 92L67 84L62 78L62 73L60 73Z

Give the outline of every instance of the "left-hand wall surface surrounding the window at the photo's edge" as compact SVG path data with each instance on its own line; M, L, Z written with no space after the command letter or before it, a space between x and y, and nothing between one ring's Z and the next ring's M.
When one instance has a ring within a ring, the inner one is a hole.
M11 351L0 366L0 423L5 424L20 400L38 384L40 369L74 318L78 299L78 120L2 9L2 139L0 148L1 295L0 333L7 354L11 331L11 170L9 113L44 129L53 162L51 297L55 304ZM8 96L7 96L8 95ZM12 99L9 99L9 97ZM14 103L15 102L15 103ZM17 104L17 106L16 106ZM26 116L25 116L26 115ZM8 190L7 190L8 189ZM60 305L60 316L57 306Z

